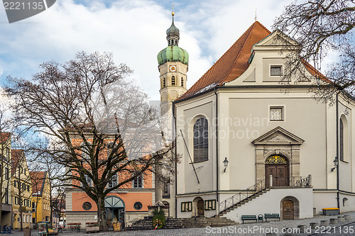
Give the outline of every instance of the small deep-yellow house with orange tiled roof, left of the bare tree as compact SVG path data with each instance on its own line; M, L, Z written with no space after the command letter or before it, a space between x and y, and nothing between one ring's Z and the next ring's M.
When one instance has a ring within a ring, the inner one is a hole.
M32 223L50 220L50 184L47 172L30 172L32 180Z

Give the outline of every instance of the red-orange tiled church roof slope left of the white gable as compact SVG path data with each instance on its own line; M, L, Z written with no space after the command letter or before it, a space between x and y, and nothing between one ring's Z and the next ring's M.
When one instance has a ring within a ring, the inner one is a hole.
M231 45L229 50L177 100L199 94L215 86L222 85L224 82L231 82L241 76L249 67L248 60L251 55L251 47L270 34L271 32L265 28L265 26L255 21L249 29L236 40L236 43Z

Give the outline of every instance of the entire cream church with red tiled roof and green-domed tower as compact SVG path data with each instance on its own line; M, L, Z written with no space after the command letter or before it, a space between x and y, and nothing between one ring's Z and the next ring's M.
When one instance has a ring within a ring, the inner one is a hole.
M307 62L302 76L283 83L284 43L297 42L255 21L187 89L189 57L179 39L173 21L158 54L160 110L180 158L169 186L172 215L241 223L241 215L355 210L354 98L316 101L320 72Z

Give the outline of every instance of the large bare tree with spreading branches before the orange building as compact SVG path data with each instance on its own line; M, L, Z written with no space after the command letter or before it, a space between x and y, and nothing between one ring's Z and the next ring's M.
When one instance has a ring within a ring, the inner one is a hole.
M9 78L14 113L23 126L48 138L37 151L65 169L65 186L92 198L99 226L107 230L108 193L160 164L174 170L175 160L160 162L171 148L163 144L158 111L126 79L131 69L114 64L109 53L80 52L65 64L40 68L30 80Z

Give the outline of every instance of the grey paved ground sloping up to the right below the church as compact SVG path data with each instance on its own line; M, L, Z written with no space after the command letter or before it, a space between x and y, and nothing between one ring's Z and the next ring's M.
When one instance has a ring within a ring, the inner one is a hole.
M340 215L350 215L351 220L345 221L342 223L338 223L337 225L330 225L330 227L337 227L339 225L348 225L349 223L355 222L355 211L349 213L343 213ZM175 230L141 230L141 231L123 231L123 232L99 232L90 234L93 236L101 236L101 235L117 235L117 236L131 236L131 235L166 235L166 236L180 236L180 235L266 235L267 232L275 229L278 232L281 230L290 228L297 229L298 225L306 225L306 227L310 227L310 223L319 223L321 220L329 220L330 218L337 218L339 215L317 215L314 218L307 218L302 220L276 220L271 222L263 222L263 223L245 223L239 224L235 226L229 227L206 227L206 228L185 228L185 229L175 229ZM354 226L355 230L355 226ZM85 232L64 232L60 235L62 236L82 236L86 235ZM22 236L23 232L14 231L12 235ZM38 235L38 230L33 230L31 235ZM295 234L295 235L311 235L308 234ZM334 235L332 233L328 233L325 235ZM340 234L342 235L342 234ZM355 235L351 234L351 235Z

